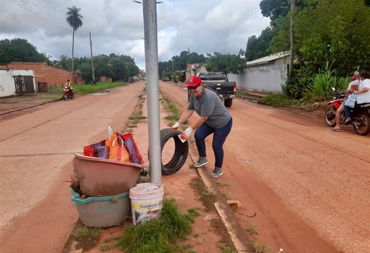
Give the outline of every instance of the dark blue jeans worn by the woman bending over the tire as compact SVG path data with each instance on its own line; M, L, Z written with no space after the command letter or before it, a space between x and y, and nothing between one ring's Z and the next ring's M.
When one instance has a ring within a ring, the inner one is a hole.
M218 168L221 168L222 162L223 162L222 145L225 142L227 135L229 135L232 126L233 126L233 119L231 118L230 121L225 126L220 127L220 128L209 127L205 123L203 123L202 126L198 127L198 129L194 133L194 138L195 138L195 143L197 144L199 156L202 156L202 157L207 156L205 153L204 139L208 135L213 133L212 148L213 148L213 152L215 153L215 166Z

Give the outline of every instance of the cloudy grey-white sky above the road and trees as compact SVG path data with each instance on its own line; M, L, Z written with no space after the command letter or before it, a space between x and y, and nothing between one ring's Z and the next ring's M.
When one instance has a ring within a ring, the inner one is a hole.
M140 0L141 1L141 0ZM269 24L260 0L162 0L157 4L159 60L190 48L206 54L245 50L247 38ZM132 0L0 0L0 39L25 38L57 59L72 53L72 29L67 7L81 8L74 55L119 53L135 58L145 69L142 5Z

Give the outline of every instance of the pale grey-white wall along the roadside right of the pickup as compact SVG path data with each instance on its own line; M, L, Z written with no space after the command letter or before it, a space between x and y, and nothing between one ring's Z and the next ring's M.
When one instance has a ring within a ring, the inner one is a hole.
M242 90L260 92L281 92L286 78L287 67L280 61L246 67L239 74L228 74L229 82L236 82Z

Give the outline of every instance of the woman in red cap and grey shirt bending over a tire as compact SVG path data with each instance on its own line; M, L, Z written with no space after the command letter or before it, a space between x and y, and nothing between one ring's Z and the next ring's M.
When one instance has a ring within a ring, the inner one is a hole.
M184 140L189 139L191 133L195 130L194 138L198 148L199 159L193 166L201 167L208 163L204 139L213 133L212 148L215 153L215 168L211 173L211 177L220 177L223 174L222 145L230 133L233 119L218 95L214 91L203 87L200 77L190 76L187 81L187 89L191 94L187 109L179 121L171 128L177 129L195 110L200 117L190 127L185 129L181 138Z

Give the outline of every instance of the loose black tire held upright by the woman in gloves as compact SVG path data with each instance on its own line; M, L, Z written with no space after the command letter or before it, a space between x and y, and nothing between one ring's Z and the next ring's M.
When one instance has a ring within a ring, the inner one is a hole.
M161 130L161 156L163 147L166 145L166 142L173 138L175 141L175 152L173 153L173 157L171 160L163 164L162 163L162 174L163 175L171 175L181 169L187 159L187 155L189 153L189 145L187 142L183 143L180 141L178 135L181 134L179 130L174 130L171 128L165 128ZM150 156L148 152L148 156Z

